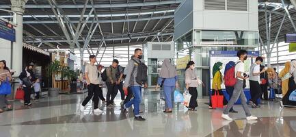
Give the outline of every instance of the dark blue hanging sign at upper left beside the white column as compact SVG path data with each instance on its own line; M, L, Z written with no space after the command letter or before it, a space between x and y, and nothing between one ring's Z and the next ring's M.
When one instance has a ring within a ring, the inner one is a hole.
M15 42L16 30L9 26L12 26L12 25L6 23L5 21L0 20L0 38Z

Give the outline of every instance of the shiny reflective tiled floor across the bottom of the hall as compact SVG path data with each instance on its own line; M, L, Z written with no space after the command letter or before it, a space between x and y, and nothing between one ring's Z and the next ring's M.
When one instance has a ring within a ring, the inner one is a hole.
M19 101L14 110L0 114L0 136L295 136L296 109L280 109L279 103L266 101L261 108L250 108L258 121L246 121L241 105L235 105L239 114L230 114L234 121L221 119L221 110L208 110L206 99L198 101L195 112L174 104L172 114L164 114L164 102L159 92L145 90L141 104L145 122L133 120L132 110L120 110L120 93L116 107L96 115L92 102L84 112L79 105L86 95L59 95L33 101L30 108Z

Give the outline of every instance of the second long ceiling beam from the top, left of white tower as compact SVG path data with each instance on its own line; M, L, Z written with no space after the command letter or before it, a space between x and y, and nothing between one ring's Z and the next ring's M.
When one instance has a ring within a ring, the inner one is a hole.
M283 14L284 16L284 14ZM149 21L154 19L161 19L161 18L174 18L174 15L166 15L166 16L154 16L149 18L132 18L129 21L126 19L117 19L117 20L99 20L98 23L122 23L122 22L133 22L133 21ZM58 21L24 21L23 24L53 24L59 23ZM79 21L72 21L72 23L79 23ZM88 21L88 23L92 23L92 21Z

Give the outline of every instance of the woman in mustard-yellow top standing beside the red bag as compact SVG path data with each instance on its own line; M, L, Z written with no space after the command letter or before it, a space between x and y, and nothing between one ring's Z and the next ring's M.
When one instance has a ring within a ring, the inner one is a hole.
M221 69L222 68L222 63L221 62L217 62L214 64L213 66L213 82L212 82L212 95L215 95L215 92L218 91L219 95L224 95L222 92L222 88L221 88L221 84L223 83L222 81L222 75L221 75ZM226 100L226 98L224 97L223 99L223 105L226 105L228 103L228 101ZM211 98L210 98L210 105L208 106L209 109L212 109L212 102L211 102Z

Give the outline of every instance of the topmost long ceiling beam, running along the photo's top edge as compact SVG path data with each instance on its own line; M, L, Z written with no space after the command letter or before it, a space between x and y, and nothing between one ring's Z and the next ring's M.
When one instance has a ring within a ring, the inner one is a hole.
M153 2L145 2L145 3L112 3L112 4L94 4L88 5L86 8L131 8L131 7L143 7L143 6L153 6L153 5L168 5L181 3L183 0L170 0L170 1L153 1ZM83 8L84 4L59 4L59 8ZM11 8L11 5L0 5L0 8ZM26 4L26 9L29 8L51 8L49 4Z

